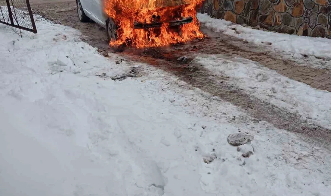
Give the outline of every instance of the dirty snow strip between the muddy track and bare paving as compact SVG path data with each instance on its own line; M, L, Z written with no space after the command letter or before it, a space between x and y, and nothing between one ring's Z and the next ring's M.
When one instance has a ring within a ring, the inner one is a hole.
M230 76L230 82L250 95L331 128L331 93L289 79L255 61L223 55L200 55L193 60L218 74Z

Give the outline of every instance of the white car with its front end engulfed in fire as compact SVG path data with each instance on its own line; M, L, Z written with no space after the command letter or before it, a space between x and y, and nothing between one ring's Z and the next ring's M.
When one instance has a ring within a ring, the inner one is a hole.
M203 0L76 0L81 22L107 30L110 45L157 47L202 38L196 7Z

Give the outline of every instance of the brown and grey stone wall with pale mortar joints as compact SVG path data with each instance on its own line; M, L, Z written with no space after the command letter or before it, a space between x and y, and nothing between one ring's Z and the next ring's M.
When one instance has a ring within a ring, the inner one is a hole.
M201 12L270 31L331 38L331 0L205 0Z

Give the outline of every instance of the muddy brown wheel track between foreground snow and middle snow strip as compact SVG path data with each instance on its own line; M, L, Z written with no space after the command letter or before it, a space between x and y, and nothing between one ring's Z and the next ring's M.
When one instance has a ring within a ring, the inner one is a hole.
M124 52L125 53L125 52ZM124 54L123 53L123 54ZM228 76L222 76L199 66L172 59L156 59L148 56L125 54L128 60L148 63L169 72L189 85L201 89L212 96L220 97L240 108L258 121L266 121L276 128L285 129L304 136L307 142L318 142L327 149L331 145L331 130L320 125L308 123L300 114L289 112L267 101L246 93L243 89L227 82ZM189 60L189 59L188 59Z

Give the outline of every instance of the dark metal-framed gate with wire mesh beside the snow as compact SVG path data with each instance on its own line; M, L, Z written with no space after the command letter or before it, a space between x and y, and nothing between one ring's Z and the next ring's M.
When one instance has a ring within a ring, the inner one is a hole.
M0 0L0 23L37 33L29 0Z

